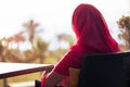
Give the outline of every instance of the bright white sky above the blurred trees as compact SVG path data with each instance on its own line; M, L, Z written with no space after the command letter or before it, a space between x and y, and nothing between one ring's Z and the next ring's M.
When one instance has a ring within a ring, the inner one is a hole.
M129 0L0 0L0 38L13 36L25 30L23 24L29 20L39 23L39 34L47 40L53 35L72 30L72 14L80 3L91 3L106 18L110 32L116 37L115 22L122 14L128 14Z

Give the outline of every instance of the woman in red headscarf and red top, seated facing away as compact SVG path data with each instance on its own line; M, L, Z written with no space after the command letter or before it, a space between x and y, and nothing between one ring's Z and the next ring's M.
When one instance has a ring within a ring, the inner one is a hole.
M80 69L82 55L86 53L118 52L118 44L108 32L102 13L91 4L79 4L73 14L72 25L77 42L57 63L54 70L42 77L41 87L54 87L68 77L68 69Z

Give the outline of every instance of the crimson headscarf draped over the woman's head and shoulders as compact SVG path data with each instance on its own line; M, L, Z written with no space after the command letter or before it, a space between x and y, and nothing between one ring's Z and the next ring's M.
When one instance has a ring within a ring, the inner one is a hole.
M93 5L79 4L74 11L72 25L77 37L77 44L72 50L87 53L119 51L102 13Z

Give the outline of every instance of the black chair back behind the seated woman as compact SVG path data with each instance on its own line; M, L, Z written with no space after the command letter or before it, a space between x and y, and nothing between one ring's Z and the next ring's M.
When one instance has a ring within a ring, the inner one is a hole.
M130 87L130 52L86 54L78 87Z

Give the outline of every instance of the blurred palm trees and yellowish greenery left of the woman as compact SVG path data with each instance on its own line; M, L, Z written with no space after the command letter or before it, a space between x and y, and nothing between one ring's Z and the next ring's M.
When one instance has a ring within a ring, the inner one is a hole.
M13 62L13 63L49 63L55 64L74 45L75 38L67 34L56 35L56 46L50 49L51 42L46 41L37 35L38 23L34 20L28 21L23 25L26 27L25 32L20 32L11 37L3 37L0 39L0 62ZM26 36L25 36L26 35ZM28 41L30 49L20 49L21 44ZM66 44L67 47L64 47ZM34 73L28 75L22 75L8 78L8 83L27 82L39 79L41 73ZM0 79L0 86L2 86L2 79Z

